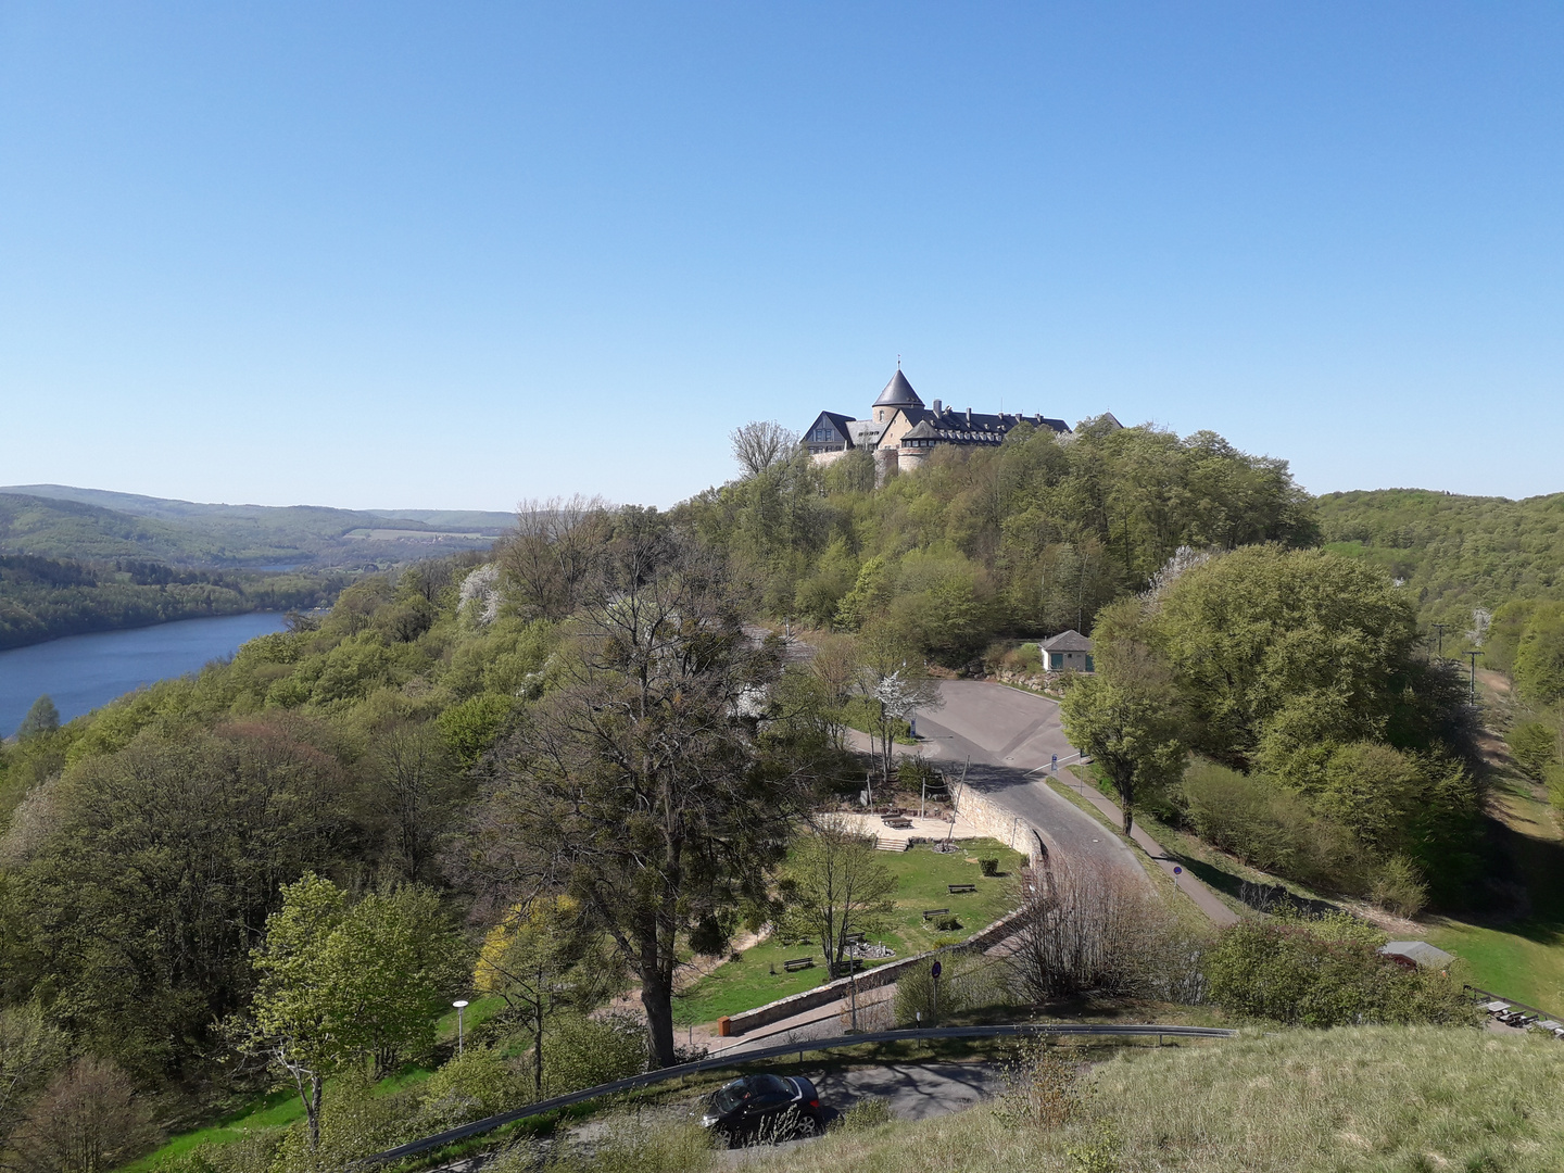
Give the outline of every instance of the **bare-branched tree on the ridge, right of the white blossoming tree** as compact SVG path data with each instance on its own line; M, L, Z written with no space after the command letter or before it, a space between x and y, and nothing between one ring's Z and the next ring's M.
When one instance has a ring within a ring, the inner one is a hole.
M516 507L516 529L500 546L500 566L519 607L563 619L602 555L613 513L602 497L551 497Z

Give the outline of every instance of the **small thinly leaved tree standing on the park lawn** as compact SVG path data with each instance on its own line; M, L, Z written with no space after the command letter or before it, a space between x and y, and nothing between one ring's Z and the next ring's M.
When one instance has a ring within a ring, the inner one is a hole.
M830 816L793 846L780 888L788 929L813 938L832 974L848 957L848 937L877 932L895 910L896 877L873 841Z

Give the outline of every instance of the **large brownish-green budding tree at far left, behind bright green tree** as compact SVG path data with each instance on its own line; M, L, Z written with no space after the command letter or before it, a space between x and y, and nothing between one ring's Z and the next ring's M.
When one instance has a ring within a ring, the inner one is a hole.
M194 1074L249 996L278 888L341 859L347 787L288 718L147 729L45 791L16 895L52 1017L138 1079Z

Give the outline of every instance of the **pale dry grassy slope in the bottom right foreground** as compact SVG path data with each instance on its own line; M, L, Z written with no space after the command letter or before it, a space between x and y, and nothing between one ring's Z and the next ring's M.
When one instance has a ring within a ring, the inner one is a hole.
M835 1134L746 1167L1551 1173L1564 1168L1561 1081L1564 1046L1547 1038L1434 1028L1286 1031L1128 1048L1092 1073L1089 1110L1062 1129L1007 1121L985 1106Z

